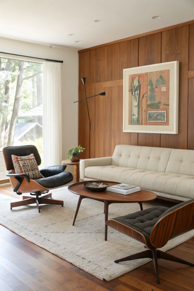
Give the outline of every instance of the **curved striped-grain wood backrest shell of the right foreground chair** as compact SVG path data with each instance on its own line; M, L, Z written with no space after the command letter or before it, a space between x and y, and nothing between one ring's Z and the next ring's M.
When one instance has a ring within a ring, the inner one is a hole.
M150 234L150 242L161 248L170 239L194 229L194 201L166 214L154 226Z

